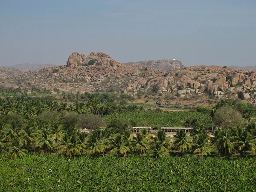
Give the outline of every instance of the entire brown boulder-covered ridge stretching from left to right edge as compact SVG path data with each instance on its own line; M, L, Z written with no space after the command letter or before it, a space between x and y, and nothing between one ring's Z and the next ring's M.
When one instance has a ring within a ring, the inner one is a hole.
M256 71L233 70L220 66L192 66L167 73L140 64L121 64L105 53L90 55L73 52L66 66L16 73L0 78L3 83L16 82L21 87L38 87L61 91L118 91L136 95L155 92L172 98L240 98L256 102Z

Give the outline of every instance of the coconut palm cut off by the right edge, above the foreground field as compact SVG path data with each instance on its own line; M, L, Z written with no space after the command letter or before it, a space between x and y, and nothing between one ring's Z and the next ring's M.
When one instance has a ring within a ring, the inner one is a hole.
M235 139L235 146L238 148L240 155L245 155L246 151L251 151L255 154L256 149L256 137L253 137L247 130L242 130L240 134L237 134Z

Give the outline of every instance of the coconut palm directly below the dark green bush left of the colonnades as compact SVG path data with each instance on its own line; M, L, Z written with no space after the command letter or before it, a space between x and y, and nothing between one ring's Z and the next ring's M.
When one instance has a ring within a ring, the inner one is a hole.
M121 134L115 134L111 140L112 154L117 154L118 156L123 156L125 153L130 151L130 148L127 146L127 143L124 141L124 136Z

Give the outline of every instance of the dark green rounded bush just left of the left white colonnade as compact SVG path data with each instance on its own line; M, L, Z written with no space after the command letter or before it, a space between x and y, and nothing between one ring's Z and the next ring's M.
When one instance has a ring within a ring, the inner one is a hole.
M132 127L128 120L123 118L115 118L108 123L107 128L113 128L116 133L123 134L125 132L130 132Z

